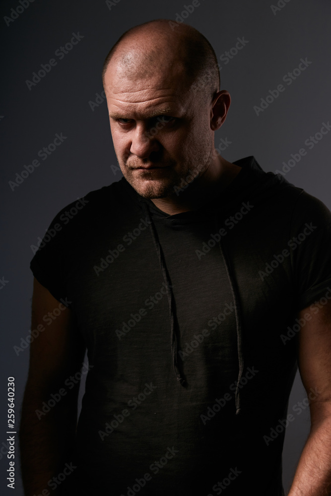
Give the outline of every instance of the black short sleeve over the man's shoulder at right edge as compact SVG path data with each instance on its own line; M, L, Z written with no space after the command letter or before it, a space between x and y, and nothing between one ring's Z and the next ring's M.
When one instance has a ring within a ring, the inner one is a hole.
M331 212L305 191L293 211L288 245L302 310L331 295Z

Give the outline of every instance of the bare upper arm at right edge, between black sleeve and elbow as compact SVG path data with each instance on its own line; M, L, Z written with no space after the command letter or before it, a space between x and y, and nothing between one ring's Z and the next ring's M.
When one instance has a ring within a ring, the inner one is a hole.
M331 415L331 301L311 307L299 313L305 325L299 333L298 362L314 423Z

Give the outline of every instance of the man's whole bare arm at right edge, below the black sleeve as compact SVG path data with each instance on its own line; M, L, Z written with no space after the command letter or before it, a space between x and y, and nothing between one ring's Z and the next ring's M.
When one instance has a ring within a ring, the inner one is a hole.
M300 329L298 361L311 399L311 430L288 496L327 496L331 495L331 301L301 310L300 318L306 323Z

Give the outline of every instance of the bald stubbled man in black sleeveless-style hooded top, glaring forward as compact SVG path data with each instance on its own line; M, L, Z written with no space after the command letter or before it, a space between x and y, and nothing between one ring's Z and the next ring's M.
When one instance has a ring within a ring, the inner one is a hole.
M230 95L194 28L131 29L103 81L124 178L31 263L33 329L57 316L31 345L26 495L283 495L297 359L312 429L289 495L330 494L330 212L215 151Z

